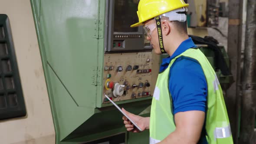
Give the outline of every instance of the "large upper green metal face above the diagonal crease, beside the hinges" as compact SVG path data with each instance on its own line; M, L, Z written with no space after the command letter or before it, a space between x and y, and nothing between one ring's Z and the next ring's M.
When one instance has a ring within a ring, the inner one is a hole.
M40 10L47 63L76 105L90 108L95 107L98 2L43 0Z

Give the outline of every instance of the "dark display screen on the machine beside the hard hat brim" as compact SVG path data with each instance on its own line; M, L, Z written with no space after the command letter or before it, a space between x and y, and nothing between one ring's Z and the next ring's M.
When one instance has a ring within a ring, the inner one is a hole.
M138 23L139 0L115 0L114 32L138 32L138 27L131 28Z

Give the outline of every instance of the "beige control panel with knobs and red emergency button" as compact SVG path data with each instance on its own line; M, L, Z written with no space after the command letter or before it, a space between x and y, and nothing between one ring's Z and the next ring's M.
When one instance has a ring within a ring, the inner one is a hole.
M104 94L113 101L151 96L152 52L109 53L104 56ZM102 103L109 102L102 95Z

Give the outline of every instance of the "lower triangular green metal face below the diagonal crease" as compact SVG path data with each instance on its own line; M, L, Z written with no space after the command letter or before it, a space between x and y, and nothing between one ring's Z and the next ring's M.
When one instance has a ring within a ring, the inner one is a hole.
M52 97L55 110L54 118L58 121L56 123L58 128L56 135L60 140L63 140L94 114L94 108L77 107L55 73L51 69L48 71L51 81L50 85L52 85L51 95L54 95ZM82 113L86 115L81 115Z

